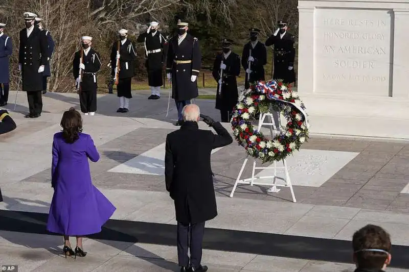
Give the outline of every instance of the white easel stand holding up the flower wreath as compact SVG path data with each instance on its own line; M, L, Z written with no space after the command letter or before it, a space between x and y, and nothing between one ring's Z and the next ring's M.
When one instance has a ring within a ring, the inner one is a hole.
M269 122L264 122L264 120L266 119L267 116L269 117L270 121ZM276 117L277 120L274 120L274 117ZM276 127L276 121L278 122L278 129ZM270 112L260 113L259 125L257 127L257 131L260 131L262 126L268 126L270 128L271 139L274 138L275 133L283 132L281 130L280 113L277 112L275 115L270 113ZM274 133L273 133L272 128L274 128ZM248 160L248 155L246 155L246 158L244 159L243 165L241 166L241 169L240 169L240 172L239 172L239 176L237 177L236 183L234 184L234 187L233 187L233 190L230 193L230 197L233 197L233 194L234 194L234 191L236 190L237 184L249 184L251 186L253 186L254 184L256 184L256 185L271 185L272 187L267 191L268 192L274 192L274 193L277 193L277 192L279 192L281 190L281 189L278 189L277 187L289 187L290 191L291 191L292 201L294 203L297 202L296 196L294 195L294 191L292 189L290 175L288 174L287 162L286 162L285 159L282 160L283 161L283 166L282 167L277 167L277 162L276 161L274 162L274 166L256 167L256 159L254 159L252 177L248 178L248 179L240 180L241 175L243 174L244 167L247 164L247 160ZM254 172L255 172L256 169L274 169L274 176L255 177ZM284 170L285 179L277 177L277 170ZM258 182L257 181L257 180L261 180L261 179L272 179L272 183L271 182L268 183L268 182ZM277 179L283 180L284 184L277 183Z

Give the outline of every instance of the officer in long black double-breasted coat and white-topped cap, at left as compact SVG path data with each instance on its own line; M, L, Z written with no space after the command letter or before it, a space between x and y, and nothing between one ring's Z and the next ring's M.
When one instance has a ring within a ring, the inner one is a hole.
M22 75L22 90L27 91L30 113L26 118L37 118L42 111L42 72L47 65L47 37L34 27L36 14L24 13L26 28L19 34L18 69Z

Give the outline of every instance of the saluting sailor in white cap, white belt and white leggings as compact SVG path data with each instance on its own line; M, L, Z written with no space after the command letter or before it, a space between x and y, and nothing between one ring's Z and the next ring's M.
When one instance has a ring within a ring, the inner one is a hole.
M159 99L161 97L161 86L163 85L162 70L165 61L165 45L167 41L158 29L158 22L151 22L148 30L139 35L137 41L145 43L146 63L148 70L148 82L151 95L148 99Z

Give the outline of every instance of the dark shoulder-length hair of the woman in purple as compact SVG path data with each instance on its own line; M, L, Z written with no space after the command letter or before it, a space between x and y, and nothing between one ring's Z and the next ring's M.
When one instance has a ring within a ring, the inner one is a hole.
M81 114L74 108L70 108L62 115L60 125L62 127L62 137L65 142L75 142L78 140L78 133L82 132Z

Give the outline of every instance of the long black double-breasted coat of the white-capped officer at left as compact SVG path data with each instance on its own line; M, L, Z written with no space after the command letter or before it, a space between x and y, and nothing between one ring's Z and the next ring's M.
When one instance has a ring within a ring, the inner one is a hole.
M48 41L46 32L33 26L33 31L27 37L27 28L20 30L20 45L18 63L22 67L22 90L41 91L42 72L38 72L41 65L47 65Z

